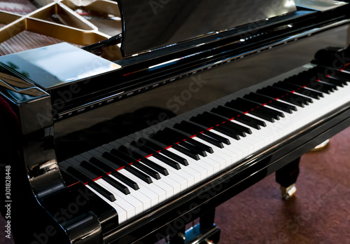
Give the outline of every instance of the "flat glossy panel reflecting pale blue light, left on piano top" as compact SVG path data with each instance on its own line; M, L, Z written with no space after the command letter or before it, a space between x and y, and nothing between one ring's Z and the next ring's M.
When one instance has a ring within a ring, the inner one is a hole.
M2 56L0 62L45 90L120 68L120 65L68 43Z

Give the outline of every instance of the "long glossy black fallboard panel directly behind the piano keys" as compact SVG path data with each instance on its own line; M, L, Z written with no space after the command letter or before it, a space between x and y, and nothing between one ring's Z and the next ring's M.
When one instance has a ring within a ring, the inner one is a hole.
M341 27L332 34L344 32L345 28ZM182 76L165 86L57 121L57 159L62 161L101 144L140 133L144 128L157 127L158 123L169 118L300 67L310 62L319 49L327 48L330 41L334 46L344 46L344 40L332 39L332 34L319 34L283 48L272 48ZM318 45L315 45L315 39L318 39Z

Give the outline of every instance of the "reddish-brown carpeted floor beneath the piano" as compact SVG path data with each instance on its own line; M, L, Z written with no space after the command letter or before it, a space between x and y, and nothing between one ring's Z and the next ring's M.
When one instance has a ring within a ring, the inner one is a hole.
M349 145L350 128L324 151L302 156L289 201L270 175L219 206L219 243L350 243Z

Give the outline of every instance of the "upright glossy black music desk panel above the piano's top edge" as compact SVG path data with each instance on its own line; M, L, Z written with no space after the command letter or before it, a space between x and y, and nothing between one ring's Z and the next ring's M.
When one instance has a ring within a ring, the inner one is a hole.
M117 0L124 56L296 11L293 0Z

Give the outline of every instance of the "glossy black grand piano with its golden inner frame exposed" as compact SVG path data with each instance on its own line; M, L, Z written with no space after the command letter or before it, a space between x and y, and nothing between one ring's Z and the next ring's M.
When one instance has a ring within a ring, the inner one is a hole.
M350 124L345 1L101 2L0 11L15 243L217 243L216 206L274 172L288 198L300 156ZM22 32L61 41L6 53Z

